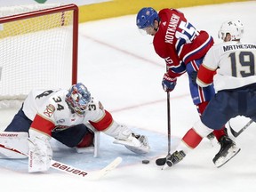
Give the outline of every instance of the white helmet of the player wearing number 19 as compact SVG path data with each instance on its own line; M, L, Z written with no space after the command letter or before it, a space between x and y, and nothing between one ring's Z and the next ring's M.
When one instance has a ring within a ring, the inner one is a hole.
M231 41L241 39L244 34L244 25L240 20L228 20L222 23L219 31L219 38L225 40L227 34L231 35Z

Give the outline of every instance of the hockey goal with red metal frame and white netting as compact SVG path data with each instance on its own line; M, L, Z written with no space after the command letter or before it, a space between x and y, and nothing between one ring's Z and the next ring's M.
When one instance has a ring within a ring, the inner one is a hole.
M2 106L24 100L32 89L68 89L76 84L76 4L0 7L0 16L4 13L0 17Z

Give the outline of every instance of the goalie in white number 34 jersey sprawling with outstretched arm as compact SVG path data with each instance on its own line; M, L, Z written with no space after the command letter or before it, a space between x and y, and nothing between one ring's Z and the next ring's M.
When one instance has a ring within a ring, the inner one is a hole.
M124 145L132 152L143 154L149 151L147 137L116 123L81 83L72 85L69 90L29 92L4 132L28 132L28 151L25 151L28 153L28 172L44 172L49 169L52 159L51 138L70 148L86 148L92 145L94 134L91 130L94 129L115 138L114 143ZM26 145L26 140L23 144Z

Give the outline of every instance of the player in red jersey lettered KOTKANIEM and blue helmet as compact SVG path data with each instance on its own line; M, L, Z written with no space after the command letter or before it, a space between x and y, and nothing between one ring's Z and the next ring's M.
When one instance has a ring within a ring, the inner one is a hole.
M142 8L137 14L136 24L142 33L154 36L155 51L166 62L167 72L164 73L162 81L164 91L172 92L177 77L187 72L190 95L201 116L215 91L212 84L206 87L198 86L195 76L206 52L212 47L212 36L204 30L197 30L184 14L176 9L163 9L157 13L151 7ZM213 134L220 144L223 140L232 142L224 126L214 130Z

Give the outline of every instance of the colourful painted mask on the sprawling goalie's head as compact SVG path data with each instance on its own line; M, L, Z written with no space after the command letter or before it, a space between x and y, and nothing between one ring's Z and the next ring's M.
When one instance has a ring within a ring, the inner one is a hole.
M77 115L84 115L87 104L91 101L91 93L82 83L73 84L66 95L66 102Z

